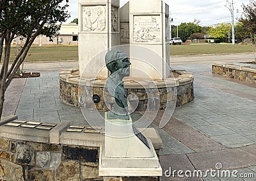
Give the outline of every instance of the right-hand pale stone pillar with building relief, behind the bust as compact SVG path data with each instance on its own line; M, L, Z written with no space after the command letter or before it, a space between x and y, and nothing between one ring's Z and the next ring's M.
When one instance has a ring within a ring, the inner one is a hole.
M161 0L130 0L129 11L131 77L165 79L170 75L169 6Z

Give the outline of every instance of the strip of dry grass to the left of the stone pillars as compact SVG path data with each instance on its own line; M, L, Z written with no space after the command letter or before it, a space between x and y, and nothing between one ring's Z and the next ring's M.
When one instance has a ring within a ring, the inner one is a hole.
M17 54L16 47L12 47L12 62ZM29 61L59 61L59 60L78 60L77 45L54 45L54 46L33 46L29 49L25 62Z

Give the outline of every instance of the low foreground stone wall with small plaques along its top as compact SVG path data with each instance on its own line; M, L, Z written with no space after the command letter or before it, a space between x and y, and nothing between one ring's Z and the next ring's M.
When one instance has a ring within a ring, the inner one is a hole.
M68 122L54 125L28 123L17 120L17 116L3 118L0 122L0 180L157 181L157 177L100 177L99 152L104 135L67 132L69 127ZM150 138L151 131L145 130L145 136ZM152 143L156 150L163 147L159 138L152 138Z

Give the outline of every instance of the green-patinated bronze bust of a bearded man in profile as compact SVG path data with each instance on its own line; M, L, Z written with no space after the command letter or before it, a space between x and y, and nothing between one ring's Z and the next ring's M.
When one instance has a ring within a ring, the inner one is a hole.
M109 119L127 119L128 104L124 89L124 77L130 75L130 61L123 51L112 50L105 56L106 67L110 75L106 82L106 88L110 95L115 98L113 110L109 111Z

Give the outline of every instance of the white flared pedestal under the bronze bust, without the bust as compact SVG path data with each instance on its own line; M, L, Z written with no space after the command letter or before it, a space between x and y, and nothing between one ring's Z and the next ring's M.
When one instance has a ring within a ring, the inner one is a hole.
M100 155L100 176L160 176L162 169L150 139L129 120L108 120Z

